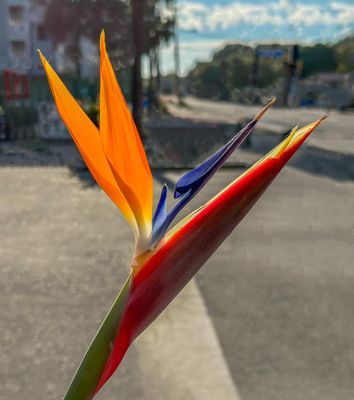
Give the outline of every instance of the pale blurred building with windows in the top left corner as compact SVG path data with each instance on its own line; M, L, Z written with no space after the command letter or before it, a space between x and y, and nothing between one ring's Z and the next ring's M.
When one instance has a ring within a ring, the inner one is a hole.
M0 72L43 73L36 49L54 56L43 25L45 5L45 0L0 0Z

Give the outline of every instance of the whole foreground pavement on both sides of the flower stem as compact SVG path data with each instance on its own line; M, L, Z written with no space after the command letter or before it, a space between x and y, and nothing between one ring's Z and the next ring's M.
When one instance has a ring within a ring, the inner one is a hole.
M245 163L264 152L250 150ZM0 398L54 400L127 274L132 238L87 175L13 157L0 167ZM197 276L242 400L354 398L354 184L329 163L303 150ZM241 172L220 171L189 210ZM228 384L194 293L142 335L98 400L204 400Z

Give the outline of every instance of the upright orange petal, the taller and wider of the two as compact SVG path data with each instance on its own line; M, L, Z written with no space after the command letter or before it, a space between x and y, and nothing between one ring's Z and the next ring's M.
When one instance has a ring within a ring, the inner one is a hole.
M102 32L100 133L114 177L146 238L151 231L153 183L143 144L108 58Z

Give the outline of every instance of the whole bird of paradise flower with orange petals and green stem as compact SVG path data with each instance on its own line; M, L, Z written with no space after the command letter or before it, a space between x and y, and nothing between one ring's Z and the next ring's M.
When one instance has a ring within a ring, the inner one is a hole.
M294 128L286 139L218 195L170 225L273 104L176 184L167 211L163 186L153 213L153 179L139 133L100 39L100 128L91 122L40 53L58 111L97 183L135 236L131 274L89 346L64 400L88 400L111 377L134 339L167 307L252 208L287 161L325 118Z

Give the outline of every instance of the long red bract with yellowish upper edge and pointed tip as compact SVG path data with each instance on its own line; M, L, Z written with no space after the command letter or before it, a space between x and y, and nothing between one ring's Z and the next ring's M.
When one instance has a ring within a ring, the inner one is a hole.
M166 308L260 198L319 121L285 139L257 165L209 201L133 275L113 351L97 390L109 379L132 341Z

